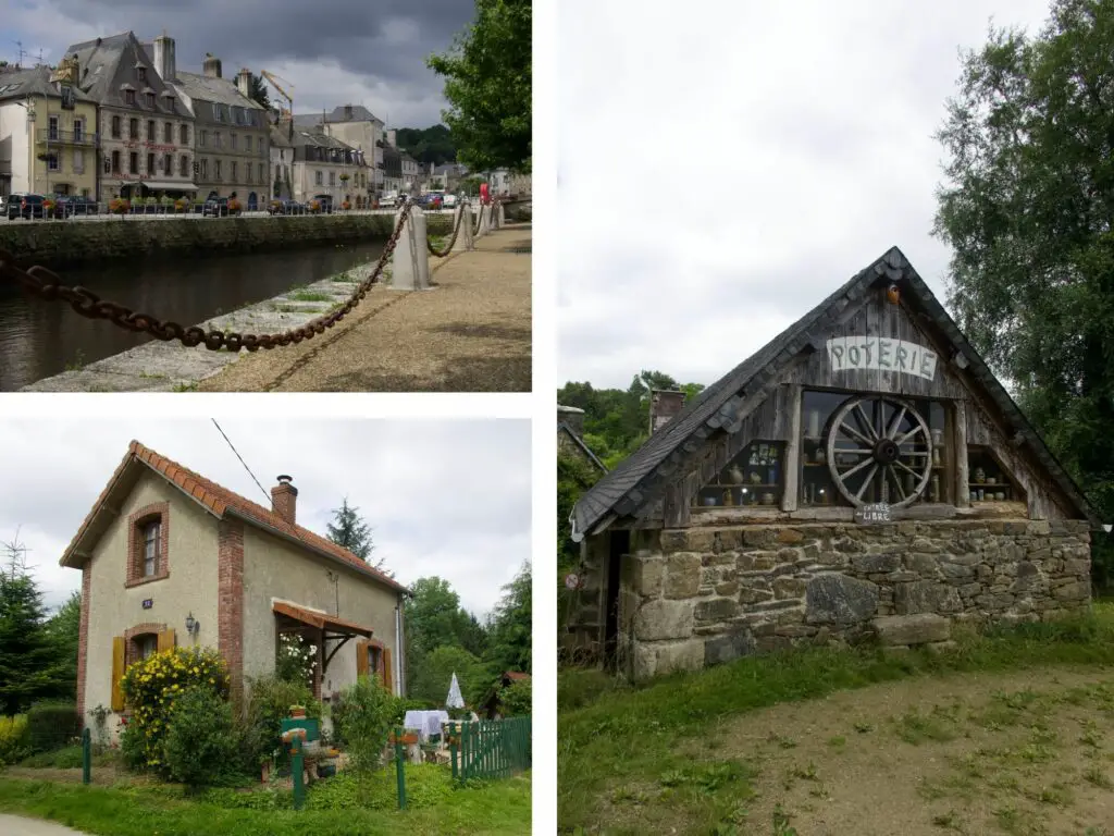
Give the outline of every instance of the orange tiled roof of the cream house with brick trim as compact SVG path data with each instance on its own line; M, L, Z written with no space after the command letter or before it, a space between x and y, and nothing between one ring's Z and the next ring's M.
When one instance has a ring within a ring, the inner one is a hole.
M265 508L226 487L217 485L211 479L206 479L204 476L145 447L139 441L131 441L128 446L128 451L124 456L124 459L113 473L111 478L108 480L105 489L100 492L100 496L97 497L97 502L89 511L85 522L81 523L81 527L74 535L74 539L69 546L67 546L65 554L59 561L62 566L77 567L85 560L85 556L79 552L82 541L87 534L91 534L94 537L97 536L96 528L102 524L101 515L102 512L107 511L106 502L117 488L129 487L130 479L128 477L130 475L131 478L135 478L136 470L133 468L136 464L145 465L218 518L229 515L240 517L260 528L275 532L285 535L290 539L300 542L307 550L324 553L334 560L346 563L352 568L391 589L400 592L407 591L407 587L398 581L368 565L364 561L356 557L346 548L336 545L331 539L326 539L320 534L314 534L301 525L291 525L271 508Z

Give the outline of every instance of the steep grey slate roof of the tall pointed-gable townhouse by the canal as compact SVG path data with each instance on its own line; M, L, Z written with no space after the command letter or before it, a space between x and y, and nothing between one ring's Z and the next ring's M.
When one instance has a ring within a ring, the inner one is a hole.
M66 48L65 55L67 58L77 56L78 71L81 74L80 87L101 107L189 117L185 105L178 101L177 97L168 99L163 95L168 89L167 85L159 77L143 45L130 31L70 45ZM141 85L136 76L137 65L147 70L146 81ZM136 105L125 103L124 85L131 85L135 89L149 87L154 90L155 109L152 110L146 106L141 95L136 97ZM170 104L173 109L167 107Z

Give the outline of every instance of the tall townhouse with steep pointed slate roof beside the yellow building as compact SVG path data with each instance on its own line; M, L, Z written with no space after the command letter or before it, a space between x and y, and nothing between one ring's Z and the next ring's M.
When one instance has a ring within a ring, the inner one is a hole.
M174 42L155 40L156 51ZM194 118L133 32L75 43L78 87L99 106L99 200L189 196Z

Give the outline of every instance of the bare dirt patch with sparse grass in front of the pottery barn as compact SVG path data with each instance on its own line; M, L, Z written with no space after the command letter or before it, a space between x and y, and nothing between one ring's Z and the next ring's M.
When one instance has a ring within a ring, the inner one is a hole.
M722 722L688 749L745 765L741 833L1114 834L1108 669L842 691Z

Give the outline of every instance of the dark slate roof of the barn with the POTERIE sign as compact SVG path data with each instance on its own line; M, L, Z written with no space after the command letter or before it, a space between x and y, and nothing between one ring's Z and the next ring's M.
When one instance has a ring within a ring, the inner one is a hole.
M737 412L743 393L760 389L778 377L782 368L802 351L822 351L824 340L814 334L823 332L829 324L833 324L849 305L861 300L876 283L882 281L901 286L903 298L916 300L929 320L942 331L946 340L967 358L968 372L983 385L1014 431L1025 440L1037 460L1048 470L1056 486L1072 500L1081 515L1097 527L1098 517L1084 498L1083 492L1052 455L994 372L959 331L925 280L913 270L905 254L895 246L870 266L851 276L834 293L754 354L704 389L672 421L597 482L573 508L570 519L574 538L583 538L586 532L612 513L626 516L656 499L666 479L675 474L677 466L686 457L685 443L690 439L706 438L715 430L733 424L740 417Z

